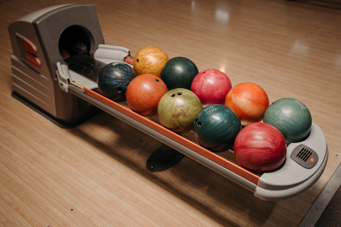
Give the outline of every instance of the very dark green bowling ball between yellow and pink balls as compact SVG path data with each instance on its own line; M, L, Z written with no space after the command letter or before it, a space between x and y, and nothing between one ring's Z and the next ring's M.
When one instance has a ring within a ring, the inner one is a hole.
M193 78L198 74L196 65L186 57L169 59L161 71L161 79L168 90L175 88L191 89Z

